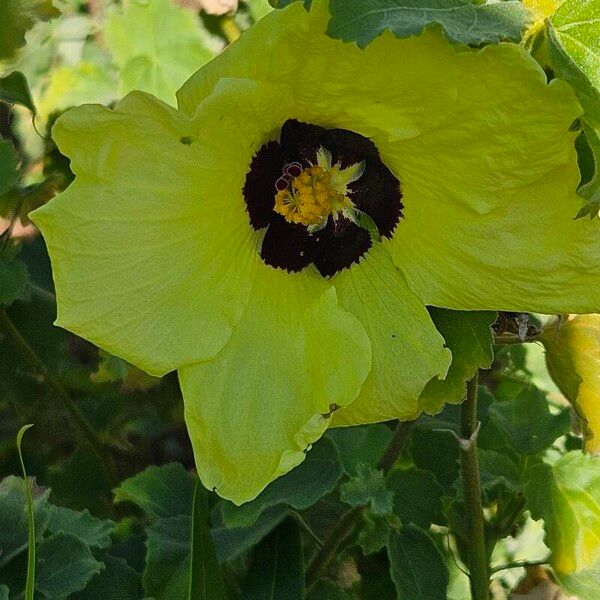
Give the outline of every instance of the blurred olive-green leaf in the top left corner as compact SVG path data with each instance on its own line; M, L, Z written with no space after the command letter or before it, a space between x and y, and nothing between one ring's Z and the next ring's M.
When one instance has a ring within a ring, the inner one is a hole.
M52 0L2 0L0 2L0 60L11 58L25 44L25 33L38 20L59 15Z

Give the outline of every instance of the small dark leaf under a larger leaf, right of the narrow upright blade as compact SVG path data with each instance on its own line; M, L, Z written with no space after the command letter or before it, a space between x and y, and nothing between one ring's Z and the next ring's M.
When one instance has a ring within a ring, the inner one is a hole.
M220 562L237 558L285 519L288 511L281 505L267 509L251 527L216 527L212 530L215 551Z

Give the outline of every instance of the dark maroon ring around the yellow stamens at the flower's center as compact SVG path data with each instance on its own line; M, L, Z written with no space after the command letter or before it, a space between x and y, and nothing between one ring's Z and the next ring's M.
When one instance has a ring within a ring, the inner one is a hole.
M400 182L383 164L373 142L345 129L290 119L281 128L279 141L264 144L254 155L243 189L252 227L268 228L261 248L268 265L301 271L314 263L321 275L330 277L359 262L373 244L373 232L341 212L329 215L314 231L274 210L276 194L290 189L294 178L316 165L323 148L340 169L364 162L360 178L348 184L347 197L381 237L391 237L402 218Z

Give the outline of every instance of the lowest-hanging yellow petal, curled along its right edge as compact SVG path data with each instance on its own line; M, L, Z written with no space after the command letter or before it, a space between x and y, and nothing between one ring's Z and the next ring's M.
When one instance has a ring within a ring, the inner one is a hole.
M370 368L365 329L316 269L261 265L229 343L179 371L204 485L236 503L254 498L304 460Z

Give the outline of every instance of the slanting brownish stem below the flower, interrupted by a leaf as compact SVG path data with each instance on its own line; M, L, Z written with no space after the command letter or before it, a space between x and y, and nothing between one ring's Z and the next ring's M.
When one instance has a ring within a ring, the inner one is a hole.
M394 466L396 460L406 447L413 423L414 421L398 422L394 434L379 460L378 468L387 473ZM319 549L306 571L306 586L308 589L317 583L321 575L336 557L340 546L356 531L364 510L364 506L351 508L329 532L329 535L323 542L323 546Z

